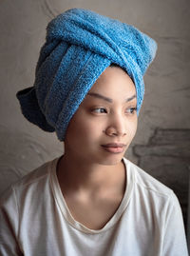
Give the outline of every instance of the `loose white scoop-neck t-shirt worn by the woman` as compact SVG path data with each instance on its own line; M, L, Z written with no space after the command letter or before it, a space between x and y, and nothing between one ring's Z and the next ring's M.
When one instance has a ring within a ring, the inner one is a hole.
M171 189L123 158L123 201L102 229L93 230L75 221L66 207L57 162L30 172L1 199L1 256L188 255L180 205Z

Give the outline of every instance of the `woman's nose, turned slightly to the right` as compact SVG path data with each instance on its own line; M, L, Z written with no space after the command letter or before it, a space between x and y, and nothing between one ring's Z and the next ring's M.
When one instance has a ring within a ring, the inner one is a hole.
M111 137L123 137L126 135L126 124L124 117L116 114L111 118L109 125L104 130L105 134Z

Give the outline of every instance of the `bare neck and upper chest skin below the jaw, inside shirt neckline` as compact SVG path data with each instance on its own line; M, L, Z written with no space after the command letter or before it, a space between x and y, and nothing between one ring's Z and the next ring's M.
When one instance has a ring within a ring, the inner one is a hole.
M65 171L64 177L60 175L62 171L59 169L63 169L61 165L69 171L69 173ZM66 168L66 163L63 161L58 165L58 179L66 205L73 218L90 229L100 229L111 219L122 202L125 190L125 171L121 163L117 170L115 167L109 169L89 167L88 175L83 175L83 178L75 171L73 175L70 175L71 169L77 169L82 173L85 168L75 167L75 165L70 167L70 164Z

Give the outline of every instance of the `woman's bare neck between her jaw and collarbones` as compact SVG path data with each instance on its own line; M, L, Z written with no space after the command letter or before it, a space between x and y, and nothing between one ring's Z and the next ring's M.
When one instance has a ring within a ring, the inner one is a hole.
M123 162L112 166L82 161L65 154L59 161L57 176L64 190L102 191L113 187L125 188ZM122 185L122 186L121 186Z

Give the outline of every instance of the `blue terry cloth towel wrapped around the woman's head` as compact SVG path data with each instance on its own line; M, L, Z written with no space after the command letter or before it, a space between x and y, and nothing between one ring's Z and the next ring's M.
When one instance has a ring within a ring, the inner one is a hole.
M56 131L64 141L68 123L86 93L113 63L134 81L139 113L143 74L156 50L156 42L133 26L91 10L66 10L47 25L34 86L17 92L22 112L29 122Z

